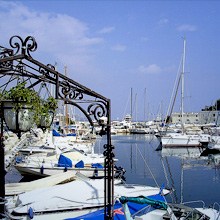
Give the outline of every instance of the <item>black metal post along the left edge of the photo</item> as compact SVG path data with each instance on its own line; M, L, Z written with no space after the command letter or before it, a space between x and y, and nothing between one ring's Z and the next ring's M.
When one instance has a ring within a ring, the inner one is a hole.
M3 106L1 103L1 137L0 137L0 213L4 213L5 205L5 152L4 152L4 140L3 140Z

